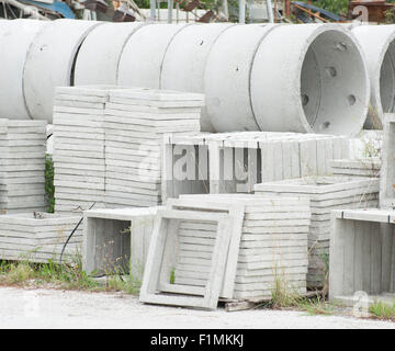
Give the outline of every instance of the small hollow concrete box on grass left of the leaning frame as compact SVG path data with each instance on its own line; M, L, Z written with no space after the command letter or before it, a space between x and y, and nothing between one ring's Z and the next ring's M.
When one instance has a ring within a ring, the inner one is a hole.
M83 213L83 270L88 274L123 270L142 279L158 208L86 211ZM110 268L109 264L111 264Z

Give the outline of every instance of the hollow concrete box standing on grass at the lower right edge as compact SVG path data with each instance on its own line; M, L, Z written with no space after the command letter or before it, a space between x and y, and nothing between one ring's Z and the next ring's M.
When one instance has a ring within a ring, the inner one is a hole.
M394 294L395 212L332 211L329 298L349 303L353 296ZM395 295L393 296L395 299Z

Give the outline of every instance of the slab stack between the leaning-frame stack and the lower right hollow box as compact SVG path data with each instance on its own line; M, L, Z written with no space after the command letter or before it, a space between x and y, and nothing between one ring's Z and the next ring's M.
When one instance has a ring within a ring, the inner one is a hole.
M323 287L327 274L330 237L330 212L337 208L377 206L377 178L312 177L257 184L256 193L273 196L307 196L312 223L308 235L308 287Z

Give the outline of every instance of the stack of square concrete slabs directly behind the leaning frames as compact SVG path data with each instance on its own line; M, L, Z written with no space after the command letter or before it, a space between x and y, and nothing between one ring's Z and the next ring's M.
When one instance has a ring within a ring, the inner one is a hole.
M236 264L233 281L230 274L226 280L226 284L234 283L230 298L270 298L275 284L300 294L306 293L311 225L308 199L264 199L252 194L182 195L180 200L170 200L168 205L177 210L200 211L205 207L221 211L228 206L230 212L236 206L235 213L241 213L238 241L235 241L234 234L226 263L227 268ZM215 226L180 223L179 228L181 259L176 264L174 282L203 286L204 259L212 250L207 245L215 238ZM198 239L202 235L205 239ZM229 297L224 291L221 296Z

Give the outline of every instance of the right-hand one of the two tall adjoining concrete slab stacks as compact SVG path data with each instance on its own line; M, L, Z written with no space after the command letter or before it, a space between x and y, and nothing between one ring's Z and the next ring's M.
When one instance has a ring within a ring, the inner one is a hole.
M154 89L110 91L105 109L105 205L161 202L161 145L166 134L200 131L202 94Z

